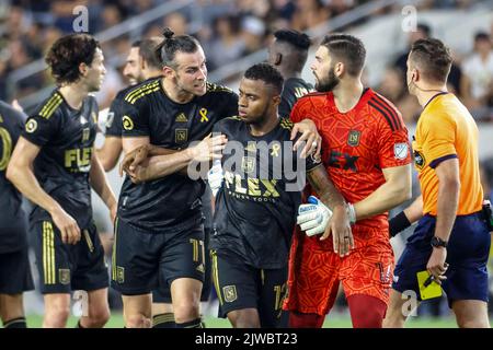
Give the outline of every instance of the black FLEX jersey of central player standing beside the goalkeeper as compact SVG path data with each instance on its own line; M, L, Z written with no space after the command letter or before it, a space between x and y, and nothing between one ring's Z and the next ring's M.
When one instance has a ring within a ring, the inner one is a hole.
M321 164L293 151L291 129L293 122L284 118L263 137L252 136L239 118L217 125L215 131L226 135L228 144L221 160L225 179L216 198L213 249L233 253L255 268L286 266L306 172Z

